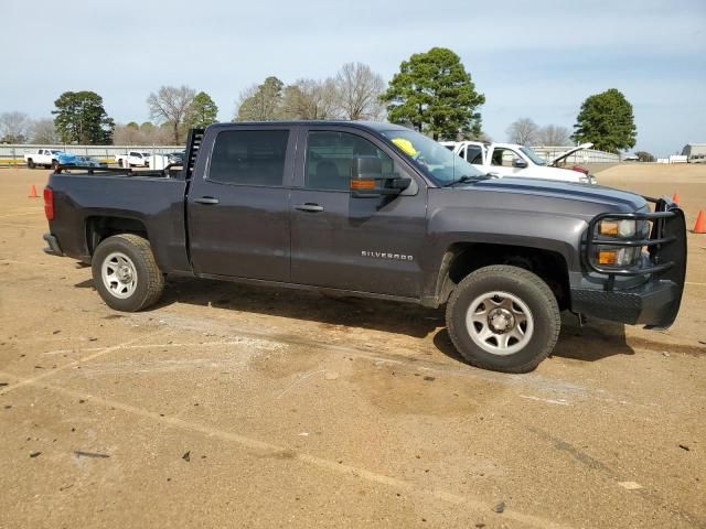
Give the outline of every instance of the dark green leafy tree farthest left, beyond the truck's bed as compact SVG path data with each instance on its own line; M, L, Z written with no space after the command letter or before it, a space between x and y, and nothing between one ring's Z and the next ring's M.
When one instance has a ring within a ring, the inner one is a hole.
M64 143L106 144L113 139L115 122L95 91L65 91L54 101L54 126Z

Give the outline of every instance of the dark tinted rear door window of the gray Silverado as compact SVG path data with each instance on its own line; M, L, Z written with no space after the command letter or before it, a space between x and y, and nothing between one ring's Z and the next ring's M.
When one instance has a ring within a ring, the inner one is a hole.
M225 130L216 137L208 180L223 184L281 186L288 130Z

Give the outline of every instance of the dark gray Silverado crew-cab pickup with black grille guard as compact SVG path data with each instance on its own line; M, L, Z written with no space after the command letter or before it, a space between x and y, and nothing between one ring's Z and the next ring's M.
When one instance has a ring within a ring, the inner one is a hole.
M44 198L45 251L90 263L113 309L165 274L446 304L458 352L500 371L549 355L560 311L667 327L684 288L668 199L491 177L389 123L214 125L179 170L60 168Z

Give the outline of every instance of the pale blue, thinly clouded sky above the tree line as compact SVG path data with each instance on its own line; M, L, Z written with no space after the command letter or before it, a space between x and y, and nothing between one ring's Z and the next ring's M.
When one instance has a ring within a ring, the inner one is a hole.
M61 93L94 90L116 121L141 122L150 91L185 84L225 121L268 75L322 78L360 61L388 80L413 53L445 46L485 95L496 141L518 117L571 128L587 96L618 88L637 150L706 142L704 0L4 0L0 18L0 112L49 117Z

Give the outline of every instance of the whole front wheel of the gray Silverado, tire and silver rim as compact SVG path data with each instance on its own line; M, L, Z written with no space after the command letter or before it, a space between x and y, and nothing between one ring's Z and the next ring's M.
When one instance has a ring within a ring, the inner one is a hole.
M484 267L453 290L446 311L451 342L469 364L527 373L554 349L561 320L556 298L536 274Z

